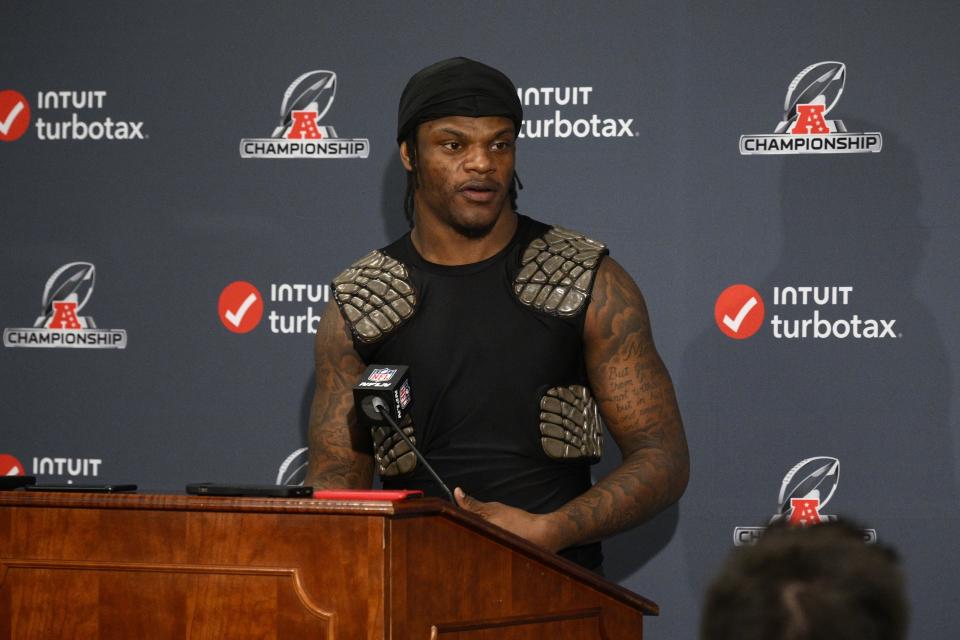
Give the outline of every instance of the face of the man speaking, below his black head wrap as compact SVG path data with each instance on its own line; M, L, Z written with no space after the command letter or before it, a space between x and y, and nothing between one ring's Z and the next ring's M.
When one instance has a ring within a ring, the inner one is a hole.
M509 118L449 116L417 129L416 207L469 238L493 229L510 210L514 130ZM406 143L400 157L413 170Z

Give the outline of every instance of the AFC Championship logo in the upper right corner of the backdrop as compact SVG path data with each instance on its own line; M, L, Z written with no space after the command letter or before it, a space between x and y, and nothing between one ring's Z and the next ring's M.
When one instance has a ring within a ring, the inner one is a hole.
M787 88L783 119L771 135L740 136L740 154L876 153L877 132L851 133L842 120L828 120L847 81L842 62L818 62L801 71Z

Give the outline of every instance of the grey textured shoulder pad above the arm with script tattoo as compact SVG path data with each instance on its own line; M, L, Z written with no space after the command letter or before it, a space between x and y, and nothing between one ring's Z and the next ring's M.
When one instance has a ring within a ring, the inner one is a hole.
M590 296L597 265L606 254L602 242L551 227L524 250L520 272L513 281L514 294L537 311L576 315Z

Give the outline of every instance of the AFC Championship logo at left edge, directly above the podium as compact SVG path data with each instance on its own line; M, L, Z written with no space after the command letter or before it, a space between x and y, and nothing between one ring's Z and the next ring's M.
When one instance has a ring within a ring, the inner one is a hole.
M98 329L92 317L80 315L93 295L95 276L89 262L71 262L54 271L33 327L4 329L3 346L125 349L125 330Z

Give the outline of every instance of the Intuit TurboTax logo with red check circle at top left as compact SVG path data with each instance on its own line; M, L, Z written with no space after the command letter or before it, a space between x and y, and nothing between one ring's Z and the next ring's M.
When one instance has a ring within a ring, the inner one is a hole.
M131 141L149 138L142 120L102 116L109 96L99 89L37 91L33 105L19 91L0 91L0 141L13 142L30 128L33 119L41 142Z

